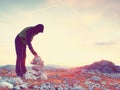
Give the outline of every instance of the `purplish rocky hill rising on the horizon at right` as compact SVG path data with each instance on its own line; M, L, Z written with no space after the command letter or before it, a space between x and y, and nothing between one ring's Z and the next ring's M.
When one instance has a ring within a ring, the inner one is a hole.
M97 70L102 73L109 73L109 74L120 73L120 66L117 66L113 62L108 61L108 60L97 61L91 65L83 66L80 69L84 69L87 71Z

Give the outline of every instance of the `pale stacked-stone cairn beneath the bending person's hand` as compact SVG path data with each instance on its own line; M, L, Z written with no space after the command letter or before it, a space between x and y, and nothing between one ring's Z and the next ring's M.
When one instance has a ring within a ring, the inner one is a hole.
M42 59L37 56L34 57L31 61L32 67L27 70L25 75L25 79L32 79L32 80L47 80L47 75L44 73L43 67L44 62Z

